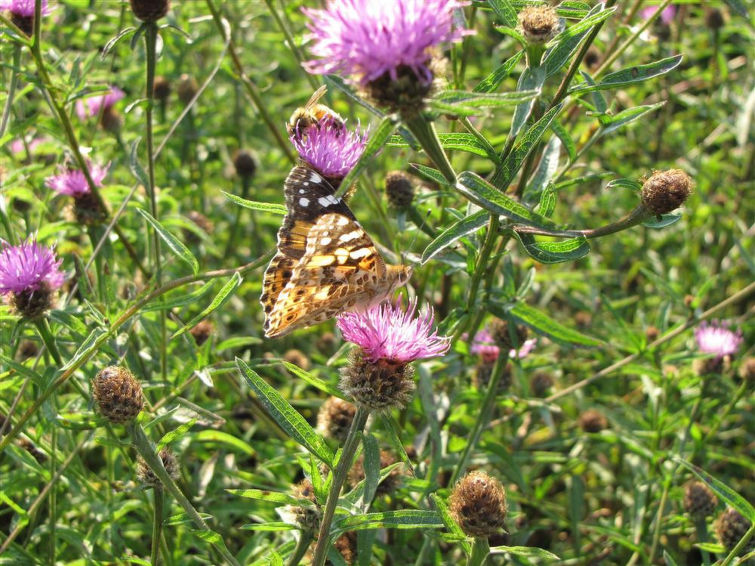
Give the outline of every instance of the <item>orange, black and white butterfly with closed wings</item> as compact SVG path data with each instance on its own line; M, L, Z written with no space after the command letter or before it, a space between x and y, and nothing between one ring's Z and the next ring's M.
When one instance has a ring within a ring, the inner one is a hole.
M409 280L411 267L386 265L343 199L314 169L295 166L284 195L288 213L260 297L266 337L365 310Z

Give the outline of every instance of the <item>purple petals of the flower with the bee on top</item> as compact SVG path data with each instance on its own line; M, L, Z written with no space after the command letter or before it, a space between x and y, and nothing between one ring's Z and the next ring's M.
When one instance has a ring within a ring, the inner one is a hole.
M364 151L367 131L351 132L340 122L326 118L305 131L295 131L291 143L304 161L325 177L342 179Z

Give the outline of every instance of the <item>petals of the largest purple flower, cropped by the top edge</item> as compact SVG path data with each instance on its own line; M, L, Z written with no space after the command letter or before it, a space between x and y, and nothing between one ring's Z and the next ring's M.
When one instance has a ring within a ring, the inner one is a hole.
M365 85L386 73L398 78L408 67L424 83L431 49L459 41L471 30L454 29L453 10L460 0L331 0L324 10L304 9L317 60L305 63L310 73L354 75Z

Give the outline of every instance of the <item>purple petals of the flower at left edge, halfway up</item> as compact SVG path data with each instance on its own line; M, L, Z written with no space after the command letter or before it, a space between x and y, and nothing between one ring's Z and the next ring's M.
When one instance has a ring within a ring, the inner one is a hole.
M36 241L20 246L3 243L0 251L0 295L37 291L46 284L50 290L63 284L62 260L55 258L52 248Z

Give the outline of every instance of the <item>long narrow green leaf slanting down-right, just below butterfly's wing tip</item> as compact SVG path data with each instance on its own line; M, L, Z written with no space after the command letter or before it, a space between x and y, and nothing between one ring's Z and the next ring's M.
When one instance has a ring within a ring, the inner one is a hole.
M249 387L257 393L260 401L268 413L270 413L270 416L278 423L278 426L322 462L325 462L328 466L332 466L333 452L325 444L325 441L309 426L304 417L274 387L268 385L257 372L246 365L244 360L236 358L236 366L238 366L241 375L246 379Z

